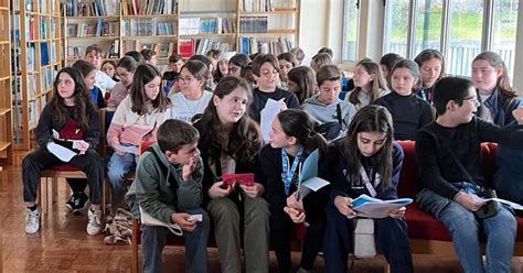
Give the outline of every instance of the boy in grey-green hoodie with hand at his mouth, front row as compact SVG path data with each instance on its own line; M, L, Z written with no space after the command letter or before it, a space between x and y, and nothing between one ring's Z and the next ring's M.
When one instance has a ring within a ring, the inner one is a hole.
M196 148L200 134L189 123L167 120L158 143L140 155L136 178L126 195L135 217L139 208L166 223L177 223L185 237L186 272L206 272L210 218L203 201L203 164ZM202 221L190 221L202 215ZM142 272L162 272L161 253L169 229L141 225Z

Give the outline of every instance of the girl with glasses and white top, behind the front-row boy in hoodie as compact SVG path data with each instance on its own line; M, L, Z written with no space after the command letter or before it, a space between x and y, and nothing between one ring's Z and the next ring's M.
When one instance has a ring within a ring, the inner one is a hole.
M189 61L180 72L180 92L171 97L171 118L191 123L192 117L203 113L213 94L204 90L209 76L207 66L200 61Z

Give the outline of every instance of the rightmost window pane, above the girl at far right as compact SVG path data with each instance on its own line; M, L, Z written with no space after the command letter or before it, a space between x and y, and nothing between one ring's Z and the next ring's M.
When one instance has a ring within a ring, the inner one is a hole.
M515 33L517 29L519 0L499 0L494 7L493 48L500 54L509 68L510 78L514 75Z

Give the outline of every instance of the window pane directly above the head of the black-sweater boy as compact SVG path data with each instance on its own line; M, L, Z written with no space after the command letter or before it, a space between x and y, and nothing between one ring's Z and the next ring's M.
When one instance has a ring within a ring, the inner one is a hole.
M482 0L450 2L449 47L447 73L470 77L472 59L481 52L483 23Z

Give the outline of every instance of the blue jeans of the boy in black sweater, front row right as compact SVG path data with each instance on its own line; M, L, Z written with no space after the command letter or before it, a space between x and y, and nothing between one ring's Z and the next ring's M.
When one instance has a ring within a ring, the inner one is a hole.
M458 187L466 193L477 192L476 187L469 183L462 183ZM440 201L439 198L445 197L433 193L418 195L417 198L418 205L425 210L424 207L430 207ZM465 272L511 272L516 221L510 210L500 206L500 211L495 216L478 219L474 212L459 203L449 200L448 205L435 217L449 229L453 248ZM478 236L480 228L487 236L487 264L484 266Z

